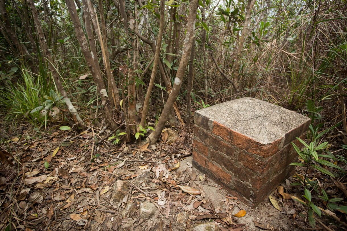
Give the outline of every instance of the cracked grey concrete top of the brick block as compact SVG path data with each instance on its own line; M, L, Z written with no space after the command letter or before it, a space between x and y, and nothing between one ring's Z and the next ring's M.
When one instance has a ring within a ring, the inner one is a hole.
M270 144L310 118L262 100L245 97L196 111L261 144Z

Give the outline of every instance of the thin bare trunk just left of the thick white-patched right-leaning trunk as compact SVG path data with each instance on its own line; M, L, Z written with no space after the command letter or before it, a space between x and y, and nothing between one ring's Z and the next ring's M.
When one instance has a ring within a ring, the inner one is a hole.
M153 68L152 68L151 79L150 79L150 83L148 85L145 101L144 101L144 104L143 104L142 117L141 117L141 122L140 122L140 125L142 127L145 127L145 121L146 121L148 106L149 106L150 97L151 97L151 93L152 93L152 89L153 89L156 68L158 66L158 61L159 61L159 55L160 55L160 49L161 49L161 41L162 41L162 37L163 37L163 33L164 33L164 24L165 24L164 12L165 12L165 1L164 0L160 0L159 33L158 33L158 40L156 42L156 47L155 47L155 56L154 56L154 63L153 63Z

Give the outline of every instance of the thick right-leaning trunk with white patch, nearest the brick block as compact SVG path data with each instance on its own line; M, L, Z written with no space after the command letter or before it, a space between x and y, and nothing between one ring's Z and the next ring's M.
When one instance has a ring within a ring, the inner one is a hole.
M158 123L155 127L155 130L147 137L147 142L155 143L156 140L158 140L161 131L163 130L166 121L169 117L169 112L172 109L172 106L175 103L176 97L179 93L179 89L181 88L183 76L185 74L185 71L187 69L187 64L189 57L191 55L192 50L192 44L194 40L194 31L195 31L195 19L196 19L196 11L197 11L197 5L199 0L191 0L189 3L189 16L188 16L188 23L187 23L187 32L185 37L185 43L183 45L183 53L181 61L179 62L175 83L172 87L170 96L168 100L165 103L164 109L160 115L160 118L158 120Z

